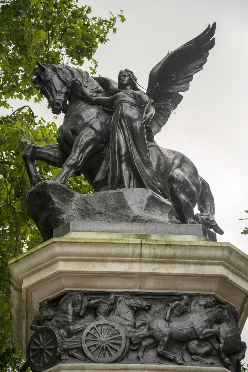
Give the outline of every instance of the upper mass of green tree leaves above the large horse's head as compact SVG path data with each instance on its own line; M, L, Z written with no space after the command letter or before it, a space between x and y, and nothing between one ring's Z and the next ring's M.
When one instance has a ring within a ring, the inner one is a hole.
M92 60L95 73L97 61L92 57L98 44L104 44L116 17L91 17L89 6L78 8L70 0L7 0L0 15L1 105L7 99L36 94L30 84L34 62L67 63L80 66L85 58ZM118 15L124 22L123 15ZM40 98L40 97L39 97ZM36 97L36 100L39 100Z

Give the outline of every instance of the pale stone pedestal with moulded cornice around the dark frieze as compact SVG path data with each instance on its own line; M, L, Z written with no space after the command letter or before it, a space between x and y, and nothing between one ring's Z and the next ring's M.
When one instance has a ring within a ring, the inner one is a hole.
M66 291L214 295L235 307L240 331L248 316L248 256L200 235L71 231L10 260L9 273L12 340L24 356L39 303ZM226 371L166 363L78 361L48 371Z

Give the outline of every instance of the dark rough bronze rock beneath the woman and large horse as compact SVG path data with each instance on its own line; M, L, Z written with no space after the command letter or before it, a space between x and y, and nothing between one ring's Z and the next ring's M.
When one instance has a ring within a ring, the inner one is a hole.
M26 207L43 241L69 221L164 222L180 224L172 203L149 189L119 189L79 194L53 181L27 193Z

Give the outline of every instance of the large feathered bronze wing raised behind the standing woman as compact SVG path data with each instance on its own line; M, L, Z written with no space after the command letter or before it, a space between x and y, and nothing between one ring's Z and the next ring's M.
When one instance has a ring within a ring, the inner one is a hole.
M153 98L156 109L150 123L153 135L161 131L161 127L169 119L171 110L174 110L182 101L183 96L179 92L186 92L193 75L203 69L209 50L215 45L213 38L215 28L216 23L214 22L212 27L209 25L195 39L188 41L171 53L168 52L163 60L151 70L147 94Z

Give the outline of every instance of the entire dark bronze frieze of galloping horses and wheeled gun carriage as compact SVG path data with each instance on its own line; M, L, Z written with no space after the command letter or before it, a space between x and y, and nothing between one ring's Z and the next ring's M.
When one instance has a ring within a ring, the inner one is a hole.
M28 366L177 364L240 371L246 344L234 308L212 295L71 291L40 303Z

